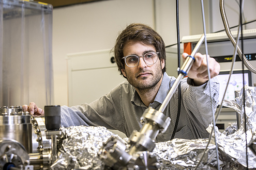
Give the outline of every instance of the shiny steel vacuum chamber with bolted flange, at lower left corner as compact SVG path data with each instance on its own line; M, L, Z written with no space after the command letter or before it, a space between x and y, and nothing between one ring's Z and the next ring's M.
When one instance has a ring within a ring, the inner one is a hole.
M23 112L21 106L1 108L0 150L2 160L4 157L6 159L0 161L0 166L49 169L50 142L46 139L44 129L43 118L35 118L28 112Z

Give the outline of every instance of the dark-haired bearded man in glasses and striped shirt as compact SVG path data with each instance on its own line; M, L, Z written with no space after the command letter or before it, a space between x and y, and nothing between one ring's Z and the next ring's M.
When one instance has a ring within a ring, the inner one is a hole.
M165 45L152 28L131 24L118 36L114 47L118 70L127 79L110 93L91 104L61 107L61 124L68 126L105 126L124 132L140 131L140 118L147 107L158 110L170 91L175 77L165 73ZM188 54L184 53L185 59ZM180 118L174 138L208 138L206 127L212 122L206 56L197 53L188 77L182 80ZM218 75L220 65L208 56L210 76ZM219 84L213 78L212 94L217 107ZM35 103L24 105L31 114L44 114ZM171 139L178 108L178 93L172 96L163 114L171 118L168 129L156 142Z

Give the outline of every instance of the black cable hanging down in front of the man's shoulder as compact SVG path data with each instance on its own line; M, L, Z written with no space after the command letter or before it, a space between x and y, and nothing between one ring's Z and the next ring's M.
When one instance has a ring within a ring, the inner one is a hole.
M179 40L179 12L178 12L178 0L176 0L176 29L177 29L177 54L178 54L178 67L180 67L180 40ZM181 86L180 83L178 85L178 112L177 112L177 117L175 121L175 126L172 132L172 137L171 140L174 138L174 135L176 133L177 127L178 127L178 121L179 121L179 115L180 115L180 105L182 101L182 91L181 91Z

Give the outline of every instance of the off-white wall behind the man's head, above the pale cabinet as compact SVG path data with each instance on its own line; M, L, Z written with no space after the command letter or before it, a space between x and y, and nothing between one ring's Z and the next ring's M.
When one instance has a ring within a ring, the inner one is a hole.
M203 33L200 2L179 1L180 38ZM223 29L219 1L204 2L207 31ZM228 11L238 10L234 0L225 3ZM109 0L53 9L54 103L68 105L67 54L112 48L118 32L130 23L148 24L160 33L166 45L174 44L175 8L175 1L172 0L155 0L155 6L154 0ZM246 0L245 9L246 18L255 19L255 0ZM233 17L227 12L227 15L232 23L230 26L238 23L237 14Z

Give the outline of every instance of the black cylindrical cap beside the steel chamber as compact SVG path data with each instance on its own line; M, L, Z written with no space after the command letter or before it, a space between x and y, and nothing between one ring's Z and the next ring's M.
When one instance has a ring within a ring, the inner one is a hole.
M47 130L58 130L61 127L61 106L44 106Z

